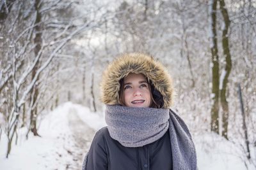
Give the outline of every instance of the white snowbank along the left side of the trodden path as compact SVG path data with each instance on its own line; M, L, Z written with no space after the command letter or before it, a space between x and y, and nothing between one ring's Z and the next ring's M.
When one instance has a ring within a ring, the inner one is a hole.
M9 158L6 154L6 136L1 141L1 169L65 169L72 164L72 155L68 153L73 139L67 126L68 105L63 105L44 118L38 136L24 138L20 135L18 145L12 145ZM22 129L24 131L25 129ZM20 134L20 132L19 132Z

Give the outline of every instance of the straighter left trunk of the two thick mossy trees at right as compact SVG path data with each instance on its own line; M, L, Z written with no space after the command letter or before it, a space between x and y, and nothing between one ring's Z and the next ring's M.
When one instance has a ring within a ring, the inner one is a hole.
M212 0L209 4L211 9L210 20L211 20L211 54L212 54L212 108L211 108L211 131L219 133L219 57L218 57L218 46L217 46L217 34L216 34L216 9L217 0Z

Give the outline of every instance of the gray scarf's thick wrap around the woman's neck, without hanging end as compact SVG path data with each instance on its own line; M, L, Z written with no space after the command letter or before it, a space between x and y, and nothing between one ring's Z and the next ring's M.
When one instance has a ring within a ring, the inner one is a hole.
M105 119L111 138L125 147L157 141L169 127L169 110L106 106Z

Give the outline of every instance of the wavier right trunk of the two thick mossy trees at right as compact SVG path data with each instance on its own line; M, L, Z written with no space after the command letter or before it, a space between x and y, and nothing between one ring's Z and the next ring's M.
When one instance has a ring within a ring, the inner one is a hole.
M221 80L222 87L220 90L220 101L221 101L221 107L223 110L222 115L222 132L221 136L228 139L228 102L227 102L227 84L228 84L228 76L230 74L231 68L232 68L232 62L231 62L231 55L229 50L229 43L228 43L228 28L230 25L230 20L228 17L228 11L225 8L225 1L220 1L220 9L221 14L223 16L224 22L225 22L225 28L222 31L222 48L223 48L223 54L225 56L226 66L225 66L225 76L224 79Z

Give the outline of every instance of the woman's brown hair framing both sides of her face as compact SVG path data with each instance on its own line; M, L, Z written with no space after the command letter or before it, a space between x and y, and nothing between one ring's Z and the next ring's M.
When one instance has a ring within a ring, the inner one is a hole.
M149 92L150 92L150 99L151 99L149 107L150 108L161 108L161 106L156 103L156 101L155 101L155 99L152 95L152 90L154 89L154 86L152 85L152 83L148 82L148 79L147 79L147 83L148 83L148 89L149 89ZM125 104L124 104L124 78L122 78L119 81L119 84L120 84L120 90L118 91L118 103L122 106L125 106Z

